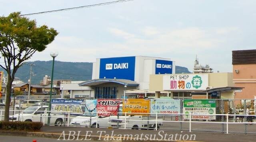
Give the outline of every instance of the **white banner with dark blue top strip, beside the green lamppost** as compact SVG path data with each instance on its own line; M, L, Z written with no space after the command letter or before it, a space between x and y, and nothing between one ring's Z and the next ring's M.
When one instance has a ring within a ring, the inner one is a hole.
M69 111L70 114L82 114L80 105L82 101L82 99L52 99L51 111Z

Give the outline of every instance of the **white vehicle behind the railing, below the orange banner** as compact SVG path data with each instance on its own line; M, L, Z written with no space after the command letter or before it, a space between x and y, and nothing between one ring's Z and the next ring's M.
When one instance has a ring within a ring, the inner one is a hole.
M119 122L119 128L124 128L124 120L126 117L126 129L155 129L156 128L156 119L143 117L142 115L128 115L128 116L110 116L108 126L109 127L117 127L117 122ZM120 120L121 119L121 120ZM131 121L132 120L132 121ZM162 126L162 119L158 119L157 128L159 129Z

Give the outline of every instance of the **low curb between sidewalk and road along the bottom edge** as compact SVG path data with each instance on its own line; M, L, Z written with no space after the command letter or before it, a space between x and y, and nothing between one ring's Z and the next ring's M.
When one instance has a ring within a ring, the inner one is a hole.
M24 131L0 131L0 135L4 135L4 136L27 136L27 137L41 137L41 138L64 138L68 140L69 135L68 134L64 134L64 136L62 136L62 134L60 133L46 133L46 132L24 132ZM86 135L74 135L74 140L81 140L84 138L87 138L88 141L102 141L104 138L106 138L106 136L95 136L95 135L91 135L91 136L87 136ZM169 142L168 140L125 140L125 137L121 137L122 140L115 140L116 138L120 138L120 137L113 137L114 140L112 140L110 138L110 140L104 140L106 142ZM62 140L60 139L60 140ZM89 140L90 139L90 140ZM172 142L198 142L198 141L184 141L184 140L174 140Z

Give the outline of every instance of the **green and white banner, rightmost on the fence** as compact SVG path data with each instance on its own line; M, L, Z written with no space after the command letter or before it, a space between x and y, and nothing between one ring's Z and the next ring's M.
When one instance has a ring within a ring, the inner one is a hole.
M216 100L213 99L184 99L183 113L185 114L216 114ZM185 115L184 119L189 119ZM191 115L191 119L215 120L215 115Z

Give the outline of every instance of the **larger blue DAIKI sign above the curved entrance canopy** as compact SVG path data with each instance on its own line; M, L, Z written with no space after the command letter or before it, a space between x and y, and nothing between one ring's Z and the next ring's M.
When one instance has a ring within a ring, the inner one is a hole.
M135 56L101 58L100 78L116 78L134 81Z

